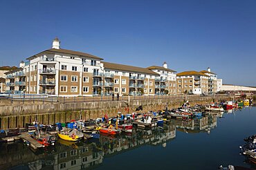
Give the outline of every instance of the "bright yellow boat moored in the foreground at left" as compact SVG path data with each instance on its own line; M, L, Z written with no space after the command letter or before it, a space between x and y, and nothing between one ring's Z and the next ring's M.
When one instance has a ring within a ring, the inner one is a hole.
M77 131L76 129L73 129L71 131L61 131L58 133L59 137L62 140L68 140L68 141L77 141L84 137L84 134Z

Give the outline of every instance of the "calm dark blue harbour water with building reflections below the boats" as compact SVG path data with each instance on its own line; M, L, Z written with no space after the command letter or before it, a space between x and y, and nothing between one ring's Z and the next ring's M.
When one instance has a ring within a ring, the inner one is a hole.
M228 164L255 168L239 146L256 133L256 107L171 120L116 137L33 151L21 142L0 145L0 169L217 169Z

